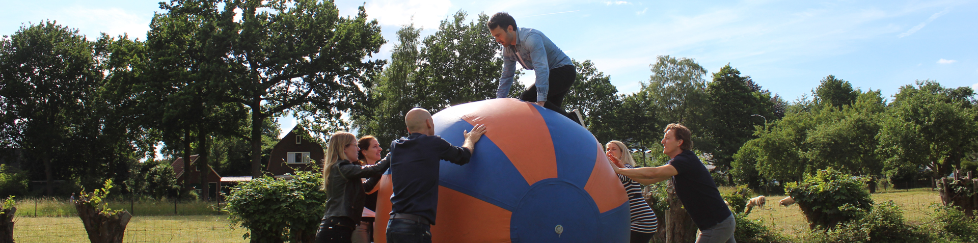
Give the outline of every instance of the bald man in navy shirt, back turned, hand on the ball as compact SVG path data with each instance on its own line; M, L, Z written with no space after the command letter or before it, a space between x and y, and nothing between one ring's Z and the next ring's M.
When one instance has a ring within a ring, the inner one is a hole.
M434 121L428 111L415 108L404 116L411 135L390 144L390 172L394 193L387 242L431 242L431 225L438 208L438 170L440 161L466 165L475 151L475 142L485 133L485 125L462 131L466 142L453 146L434 135Z

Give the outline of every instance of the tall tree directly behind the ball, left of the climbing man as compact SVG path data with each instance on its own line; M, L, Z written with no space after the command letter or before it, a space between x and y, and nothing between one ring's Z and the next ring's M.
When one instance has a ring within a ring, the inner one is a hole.
M362 134L390 141L406 135L404 114L411 108L436 113L451 105L495 98L503 67L496 54L502 46L489 34L488 16L479 14L468 23L466 19L466 12L459 11L421 41L421 29L402 26L390 66L369 89L371 102L367 104L376 109L354 116ZM522 89L513 83L511 97Z

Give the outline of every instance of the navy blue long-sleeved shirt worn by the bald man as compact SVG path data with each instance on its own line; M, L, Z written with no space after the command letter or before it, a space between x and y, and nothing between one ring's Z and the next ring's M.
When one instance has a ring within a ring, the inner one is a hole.
M390 143L390 178L394 193L390 215L412 214L434 224L438 208L438 170L441 161L466 165L472 154L440 136L411 133Z

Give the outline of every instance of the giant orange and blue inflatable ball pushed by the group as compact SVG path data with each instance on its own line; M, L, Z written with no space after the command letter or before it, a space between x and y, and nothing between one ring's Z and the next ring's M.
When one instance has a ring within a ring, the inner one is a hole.
M487 127L467 165L441 162L433 242L628 242L625 189L580 124L516 99L458 105L433 119L435 134L457 146L463 130ZM376 242L386 242L391 176L380 180Z

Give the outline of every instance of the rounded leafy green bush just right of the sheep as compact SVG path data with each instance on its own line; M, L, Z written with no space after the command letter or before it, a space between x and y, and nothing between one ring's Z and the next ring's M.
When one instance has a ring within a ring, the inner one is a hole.
M801 182L788 182L785 191L794 198L812 228L834 228L840 222L858 219L872 208L863 181L832 168L809 174Z

